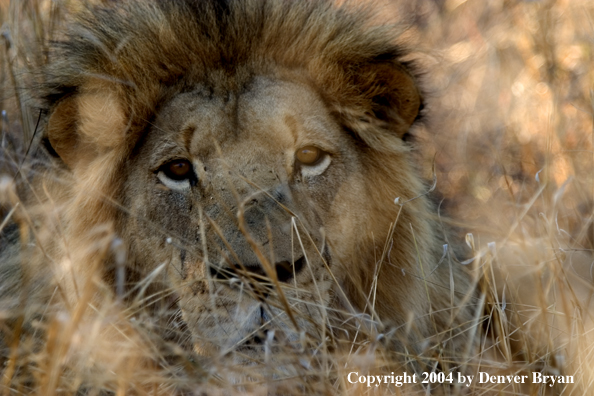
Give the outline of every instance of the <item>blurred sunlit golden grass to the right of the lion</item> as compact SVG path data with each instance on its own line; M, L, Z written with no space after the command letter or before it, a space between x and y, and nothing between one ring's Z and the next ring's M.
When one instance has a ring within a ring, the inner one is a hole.
M480 257L483 290L497 290L490 352L508 364L489 370L575 374L583 388L557 392L589 394L594 2L402 7L427 71L422 169L431 178L435 163L442 208Z

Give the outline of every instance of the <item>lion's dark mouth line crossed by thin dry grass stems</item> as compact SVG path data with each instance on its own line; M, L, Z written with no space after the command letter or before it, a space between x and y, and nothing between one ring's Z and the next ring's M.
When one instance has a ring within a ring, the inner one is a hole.
M279 282L287 283L297 276L305 266L305 256L290 261L280 261L274 265L276 277ZM233 281L234 279L247 279L250 282L270 283L270 278L261 264L233 264L232 267L210 267L213 279Z

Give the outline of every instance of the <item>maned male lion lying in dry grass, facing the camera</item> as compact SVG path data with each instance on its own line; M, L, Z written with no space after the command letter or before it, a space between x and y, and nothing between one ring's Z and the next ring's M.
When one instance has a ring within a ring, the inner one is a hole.
M460 355L475 282L417 169L424 94L395 30L328 1L74 12L38 91L28 279L71 305L94 271L124 303L150 284L185 348L240 365L363 327Z

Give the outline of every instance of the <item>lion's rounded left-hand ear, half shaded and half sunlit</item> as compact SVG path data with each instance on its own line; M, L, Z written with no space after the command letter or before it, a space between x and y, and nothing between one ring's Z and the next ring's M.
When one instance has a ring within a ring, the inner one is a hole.
M62 99L51 110L47 137L53 150L71 169L81 161L117 147L124 140L126 123L112 90L97 84Z

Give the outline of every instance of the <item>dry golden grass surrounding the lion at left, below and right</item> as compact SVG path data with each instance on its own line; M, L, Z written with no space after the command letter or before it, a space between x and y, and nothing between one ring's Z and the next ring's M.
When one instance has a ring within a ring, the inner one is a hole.
M0 227L12 216L10 177L21 164L27 168L38 117L23 88L39 78L63 3L71 2L0 0ZM386 0L379 6L388 19L403 10L412 16L406 35L418 43L415 57L427 69L430 92L427 127L417 131L421 166L430 179L435 163L441 211L466 234L475 257L468 265L482 276L481 350L458 368L470 374L562 373L576 382L546 389L475 383L444 391L594 394L594 3ZM260 388L232 387L225 378L237 368L216 358L166 360L159 340L138 325L149 318L134 307L123 309L100 286L89 290L102 296L100 309L49 310L24 326L23 312L45 308L24 299L10 309L0 305L1 394L425 392L347 382L351 371L396 371L373 339L360 341L348 356L322 353L297 378L254 374Z

